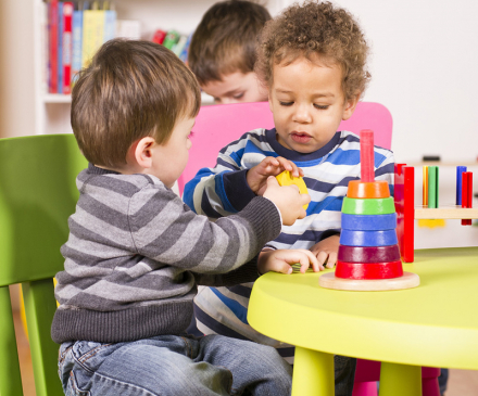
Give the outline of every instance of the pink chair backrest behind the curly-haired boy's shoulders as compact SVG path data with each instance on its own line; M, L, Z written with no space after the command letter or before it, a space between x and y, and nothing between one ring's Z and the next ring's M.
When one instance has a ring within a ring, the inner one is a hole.
M189 151L189 163L178 180L180 194L185 184L199 169L215 166L217 153L225 145L252 129L273 127L274 119L268 102L202 106L192 128L194 136ZM390 149L392 116L386 106L358 102L352 117L339 126L339 130L349 130L357 135L362 129L372 129L375 132L375 144Z

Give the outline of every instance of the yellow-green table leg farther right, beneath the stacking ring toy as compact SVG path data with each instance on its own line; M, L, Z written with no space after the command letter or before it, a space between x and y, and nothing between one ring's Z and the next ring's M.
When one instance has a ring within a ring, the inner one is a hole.
M422 396L422 367L382 361L380 396Z

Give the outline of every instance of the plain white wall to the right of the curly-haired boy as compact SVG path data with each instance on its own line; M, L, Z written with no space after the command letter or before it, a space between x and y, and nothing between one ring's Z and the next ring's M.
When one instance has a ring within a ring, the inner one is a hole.
M361 23L372 47L372 81L364 100L393 117L392 150L399 163L437 154L444 162L478 157L478 3L462 0L337 0ZM478 163L475 174L478 191ZM415 168L415 203L422 202ZM440 202L455 200L455 168L440 167ZM478 206L475 200L474 206ZM416 247L478 245L478 227L446 220L444 228L415 227Z

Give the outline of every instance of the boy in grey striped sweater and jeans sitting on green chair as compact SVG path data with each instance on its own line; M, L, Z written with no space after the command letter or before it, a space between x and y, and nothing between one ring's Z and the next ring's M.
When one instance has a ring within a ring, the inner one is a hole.
M235 216L211 222L173 193L200 107L192 73L164 47L112 40L73 90L72 126L89 161L56 274L51 329L65 394L289 395L291 370L268 346L186 335L197 284L231 285L318 263L261 256L309 195L267 181Z

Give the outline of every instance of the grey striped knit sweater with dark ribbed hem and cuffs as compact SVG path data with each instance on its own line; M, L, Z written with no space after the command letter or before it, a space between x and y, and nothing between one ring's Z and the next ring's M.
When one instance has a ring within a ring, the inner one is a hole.
M77 187L61 248L65 269L56 274L56 343L181 334L192 317L196 284L255 280L257 253L280 233L277 208L259 196L237 215L211 222L153 176L89 165Z

